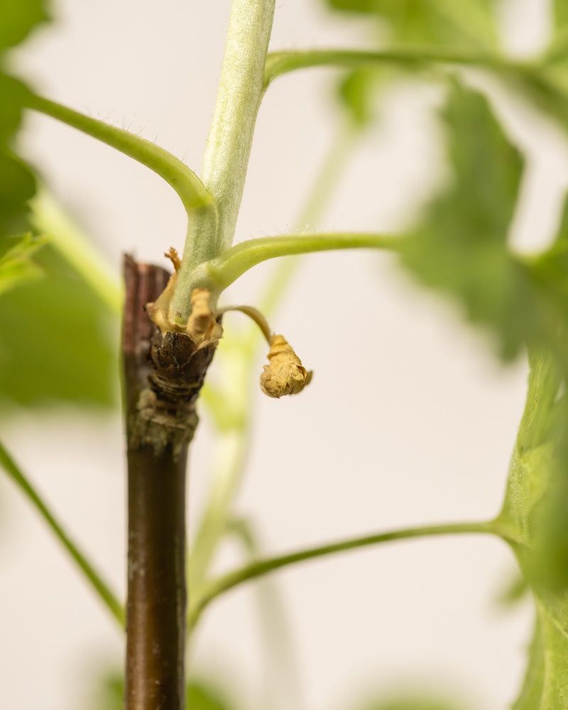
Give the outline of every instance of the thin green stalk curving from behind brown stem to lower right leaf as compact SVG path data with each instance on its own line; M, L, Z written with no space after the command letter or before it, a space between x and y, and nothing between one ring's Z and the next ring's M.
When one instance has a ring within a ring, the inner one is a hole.
M234 572L224 574L222 577L213 579L206 584L201 590L194 590L193 602L190 604L189 623L190 626L195 626L199 620L204 608L220 594L232 589L239 584L243 584L256 577L261 577L263 574L275 572L276 569L289 567L290 564L297 562L305 562L307 559L315 557L324 557L325 555L333 555L336 552L345 552L346 550L355 550L359 547L368 547L369 545L378 545L381 542L393 542L395 540L408 540L413 537L432 537L435 535L470 535L472 533L483 533L489 535L503 536L503 532L498 528L498 524L493 520L474 522L474 523L443 523L441 525L422 525L417 528L403 528L401 530L392 530L391 532L379 532L376 535L366 535L364 537L355 537L351 540L342 540L341 542L332 542L330 545L322 545L320 547L312 547L308 550L300 550L292 552L289 555L280 557L272 557L270 559L261 559L258 562L253 562L246 567L236 569Z

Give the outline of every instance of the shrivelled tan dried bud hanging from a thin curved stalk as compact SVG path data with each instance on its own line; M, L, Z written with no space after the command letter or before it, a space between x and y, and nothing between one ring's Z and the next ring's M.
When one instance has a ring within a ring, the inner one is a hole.
M292 346L282 335L271 337L268 353L270 364L265 365L261 374L262 391L269 397L283 397L301 392L312 379Z

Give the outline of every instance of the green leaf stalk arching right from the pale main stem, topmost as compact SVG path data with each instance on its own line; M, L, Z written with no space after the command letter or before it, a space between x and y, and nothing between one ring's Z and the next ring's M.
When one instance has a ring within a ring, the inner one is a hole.
M361 52L358 50L303 50L289 52L273 52L266 58L264 74L265 87L268 87L276 77L297 69L309 67L342 67L355 69L373 64L431 65L450 64L459 66L475 66L488 69L517 72L525 74L530 71L530 65L513 62L495 54L479 52L459 52L439 50L438 48L394 48L378 52Z

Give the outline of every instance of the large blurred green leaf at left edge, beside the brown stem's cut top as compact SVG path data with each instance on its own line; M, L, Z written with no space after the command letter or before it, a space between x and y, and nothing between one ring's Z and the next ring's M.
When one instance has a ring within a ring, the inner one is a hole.
M51 246L44 277L1 296L0 411L13 403L116 402L118 322Z

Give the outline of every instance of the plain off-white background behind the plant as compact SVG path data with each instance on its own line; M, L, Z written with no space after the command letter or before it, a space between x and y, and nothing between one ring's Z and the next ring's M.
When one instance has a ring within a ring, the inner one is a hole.
M514 7L514 11L511 8ZM222 60L229 1L60 0L20 66L48 97L129 128L199 172ZM546 32L545 3L503 5L506 42L530 52ZM317 0L278 3L273 49L368 43L364 23ZM261 107L239 241L293 229L337 135L334 75L275 82ZM320 228L391 231L442 174L431 109L438 92L412 85L349 164ZM511 239L550 237L565 147L534 117L508 111L532 159ZM536 127L536 130L535 130ZM184 214L159 178L43 116L26 151L119 273L121 253L164 263L182 248ZM270 265L225 302L255 302ZM239 316L236 316L239 318ZM525 366L501 367L459 312L368 252L305 258L273 328L315 378L297 398L255 391L251 461L239 495L266 548L284 552L404 525L471 520L500 505L523 407ZM258 363L260 371L261 362ZM118 415L75 410L2 422L2 437L75 537L124 593L124 455ZM207 489L207 421L191 463L191 518ZM232 559L231 552L225 562ZM530 638L525 605L496 598L515 570L497 540L459 537L352 552L278 574L297 682L275 708L349 710L393 687L449 689L466 706L501 710L515 696ZM123 640L106 611L11 484L0 481L0 703L26 710L86 707L95 670L120 664ZM263 702L266 665L253 587L213 606L192 665L224 679L249 709Z

